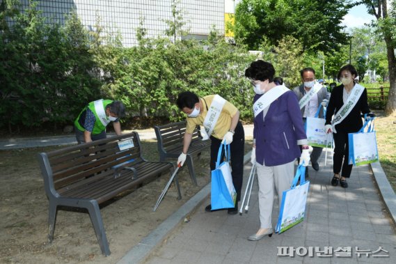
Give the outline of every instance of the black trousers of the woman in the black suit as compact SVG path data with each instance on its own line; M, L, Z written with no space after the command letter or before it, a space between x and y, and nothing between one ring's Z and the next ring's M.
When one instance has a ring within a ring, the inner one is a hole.
M349 143L347 132L333 133L334 138L334 155L333 155L333 172L344 178L351 177L353 164L349 165Z

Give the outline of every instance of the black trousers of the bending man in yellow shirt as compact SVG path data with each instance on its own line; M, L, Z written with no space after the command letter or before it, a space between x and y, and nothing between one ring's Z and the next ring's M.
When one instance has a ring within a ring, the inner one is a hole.
M210 146L210 170L216 169L217 154L219 153L219 148L222 139L216 139L215 137L210 137L212 140L212 145ZM237 201L241 200L241 189L244 177L244 148L245 148L245 132L244 127L240 122L238 122L237 127L235 127L235 134L232 137L232 142L230 144L231 152L231 175L232 183L234 184L235 191L237 192ZM223 160L224 151L221 153L221 160Z

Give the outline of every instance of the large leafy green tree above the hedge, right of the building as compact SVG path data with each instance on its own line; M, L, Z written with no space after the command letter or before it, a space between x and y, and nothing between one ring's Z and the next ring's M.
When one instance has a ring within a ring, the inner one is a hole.
M347 42L342 33L342 18L351 1L308 0L242 0L235 10L235 38L249 49L257 49L267 38L277 45L292 36L303 45L303 51L337 50Z

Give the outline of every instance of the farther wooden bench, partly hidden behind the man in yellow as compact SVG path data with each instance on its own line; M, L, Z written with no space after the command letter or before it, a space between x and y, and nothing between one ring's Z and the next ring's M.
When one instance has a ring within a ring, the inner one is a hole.
M157 146L159 151L159 158L164 162L166 158L177 158L182 153L183 138L186 132L186 121L171 123L168 125L157 125L154 127L157 135ZM200 156L200 153L209 148L211 144L210 139L203 141L200 135L200 127L197 125L193 132L193 138L187 152L187 166L194 185L197 184L196 173L193 166L193 156Z

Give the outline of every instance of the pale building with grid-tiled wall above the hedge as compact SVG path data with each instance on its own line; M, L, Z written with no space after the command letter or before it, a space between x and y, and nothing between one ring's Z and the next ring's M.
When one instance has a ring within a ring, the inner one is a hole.
M173 20L174 0L56 0L38 1L38 10L49 19L49 23L64 24L68 13L76 10L81 22L88 30L95 30L100 17L102 26L109 31L119 32L124 47L136 45L136 29L141 18L148 37L164 36L168 28L166 20ZM29 6L28 0L21 1L21 9ZM176 1L189 29L186 38L207 38L212 26L225 34L225 21L234 13L235 0L180 0ZM232 33L227 33L232 36Z

